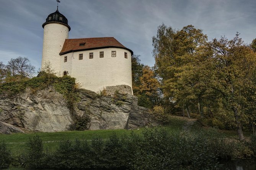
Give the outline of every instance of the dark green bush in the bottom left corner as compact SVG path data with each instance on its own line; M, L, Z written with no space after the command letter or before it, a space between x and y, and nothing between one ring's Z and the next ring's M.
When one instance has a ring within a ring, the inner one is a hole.
M11 164L11 153L4 142L0 143L0 169L8 168Z

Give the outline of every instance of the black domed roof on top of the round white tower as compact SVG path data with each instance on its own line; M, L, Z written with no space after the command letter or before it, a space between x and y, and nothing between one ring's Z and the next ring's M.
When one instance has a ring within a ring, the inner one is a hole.
M48 17L46 18L46 22L44 22L44 24L42 24L42 27L44 27L48 23L64 24L65 26L68 27L68 31L70 31L70 29L71 29L70 26L68 25L68 19L64 15L59 13L58 9L56 12L48 15Z

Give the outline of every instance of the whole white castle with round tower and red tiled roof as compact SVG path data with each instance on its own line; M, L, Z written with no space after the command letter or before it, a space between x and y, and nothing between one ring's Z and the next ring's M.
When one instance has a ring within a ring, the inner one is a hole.
M132 50L114 37L68 39L67 18L49 14L44 28L42 63L51 63L57 76L75 77L82 88L99 92L120 90L132 95Z

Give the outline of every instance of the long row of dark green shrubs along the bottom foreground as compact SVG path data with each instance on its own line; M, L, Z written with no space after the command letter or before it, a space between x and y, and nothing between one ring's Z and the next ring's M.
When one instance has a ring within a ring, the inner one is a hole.
M14 165L30 169L83 170L217 170L226 159L251 156L256 151L256 137L249 149L245 143L229 141L221 136L205 133L169 133L164 128L151 128L141 135L109 136L92 141L65 140L54 151L47 151L39 136L28 142L28 148ZM11 162L10 152L0 144L0 169Z

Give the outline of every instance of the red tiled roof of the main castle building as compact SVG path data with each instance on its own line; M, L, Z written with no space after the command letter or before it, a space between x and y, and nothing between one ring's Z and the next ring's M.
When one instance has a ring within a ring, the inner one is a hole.
M84 46L80 46L81 43L85 43ZM124 47L114 37L98 37L98 38L77 38L77 39L66 39L63 45L60 55L70 53L72 51L84 51L93 50L99 48L124 48L129 50L132 54L132 50Z

